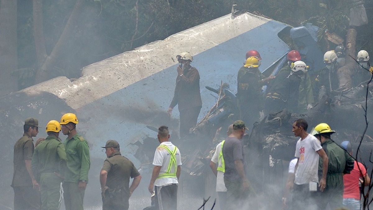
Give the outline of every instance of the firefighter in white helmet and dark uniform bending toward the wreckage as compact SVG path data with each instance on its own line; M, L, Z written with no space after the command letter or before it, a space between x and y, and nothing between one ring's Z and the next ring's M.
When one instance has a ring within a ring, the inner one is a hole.
M265 98L265 112L279 112L282 109L298 104L299 86L307 72L303 61L295 61L288 68L283 68L269 85Z

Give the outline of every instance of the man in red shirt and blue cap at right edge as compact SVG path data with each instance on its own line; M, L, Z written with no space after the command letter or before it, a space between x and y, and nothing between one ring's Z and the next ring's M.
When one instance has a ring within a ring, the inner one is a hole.
M349 141L344 141L341 146L352 156L352 146ZM359 170L360 169L360 170ZM364 178L360 179L360 178ZM354 169L350 174L343 175L343 205L350 210L360 210L360 187L359 183L368 186L370 178L363 164L354 162Z

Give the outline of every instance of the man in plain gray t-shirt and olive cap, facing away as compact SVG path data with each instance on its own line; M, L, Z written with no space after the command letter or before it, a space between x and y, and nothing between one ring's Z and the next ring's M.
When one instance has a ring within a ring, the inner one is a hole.
M243 146L239 139L245 133L245 123L237 120L233 123L233 133L223 145L225 162L224 183L227 188L227 206L236 209L243 205L249 195L255 194L245 175Z

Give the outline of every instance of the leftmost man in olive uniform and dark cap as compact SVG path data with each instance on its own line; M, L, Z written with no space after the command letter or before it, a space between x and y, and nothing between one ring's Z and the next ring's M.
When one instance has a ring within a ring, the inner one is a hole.
M27 118L23 125L23 136L14 145L13 181L14 209L40 209L39 185L32 173L31 159L34 154L34 140L38 135L38 120Z

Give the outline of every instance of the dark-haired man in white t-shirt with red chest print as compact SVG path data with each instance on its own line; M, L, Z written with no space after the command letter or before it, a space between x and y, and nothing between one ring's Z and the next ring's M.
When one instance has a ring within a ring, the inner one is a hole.
M295 157L298 162L295 165L294 198L295 209L307 209L315 204L312 197L316 196L317 183L320 191L324 191L329 159L321 146L320 141L307 133L308 123L304 119L295 120L292 132L300 139L295 149ZM323 160L323 175L319 182L317 175L319 167L319 155Z

